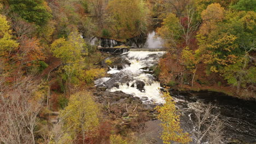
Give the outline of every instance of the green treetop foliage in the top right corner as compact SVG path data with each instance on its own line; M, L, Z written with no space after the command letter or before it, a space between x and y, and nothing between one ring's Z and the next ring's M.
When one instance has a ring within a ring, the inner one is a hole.
M231 5L230 8L243 11L256 12L256 1L254 0L240 0L236 4Z

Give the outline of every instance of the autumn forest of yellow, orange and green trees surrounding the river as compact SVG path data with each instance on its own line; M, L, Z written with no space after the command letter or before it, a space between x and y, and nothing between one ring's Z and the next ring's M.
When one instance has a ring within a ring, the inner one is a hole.
M139 135L149 117L160 119L163 143L220 143L211 105L196 116L219 125L193 136L168 91L153 110L128 97L136 105L102 102L94 81L114 61L91 41L127 43L155 29L162 87L255 101L255 19L254 0L0 0L0 143L154 143Z

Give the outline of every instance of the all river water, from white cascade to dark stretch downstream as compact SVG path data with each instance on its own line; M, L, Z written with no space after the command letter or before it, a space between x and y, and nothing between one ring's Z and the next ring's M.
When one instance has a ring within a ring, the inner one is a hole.
M144 46L158 47L162 43L161 39L153 37L155 33L148 35ZM152 40L149 40L152 39ZM159 58L164 55L164 51L130 51L123 53L119 57L122 61L130 64L120 63L123 68L109 67L109 77L103 77L95 81L96 86L105 86L107 91L123 91L132 97L139 97L144 104L164 104L165 100L161 97L161 86L152 75L152 66L158 63ZM224 139L222 143L256 143L256 102L245 101L229 97L216 92L183 92L179 93L170 89L170 93L176 101L176 106L181 112L181 127L192 134L195 130L196 121L193 118L194 111L198 105L206 107L208 104L214 105L213 113L220 113L219 118L224 122ZM152 137L157 142L159 139L160 127L157 122L148 122L146 125L151 127ZM231 142L233 141L233 142ZM194 142L191 142L194 143ZM205 140L202 143L207 143Z

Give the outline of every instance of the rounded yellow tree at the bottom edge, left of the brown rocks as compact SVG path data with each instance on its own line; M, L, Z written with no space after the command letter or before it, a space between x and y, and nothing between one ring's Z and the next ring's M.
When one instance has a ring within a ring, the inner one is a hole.
M75 140L82 136L85 139L95 134L99 125L100 109L89 92L78 92L71 95L68 106L61 112L63 130Z

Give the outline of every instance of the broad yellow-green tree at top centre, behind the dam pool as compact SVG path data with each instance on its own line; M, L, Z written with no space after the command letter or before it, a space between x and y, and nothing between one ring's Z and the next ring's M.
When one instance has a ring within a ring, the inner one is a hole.
M113 0L107 11L114 38L128 39L147 32L148 9L143 1Z

